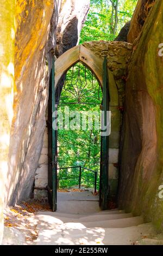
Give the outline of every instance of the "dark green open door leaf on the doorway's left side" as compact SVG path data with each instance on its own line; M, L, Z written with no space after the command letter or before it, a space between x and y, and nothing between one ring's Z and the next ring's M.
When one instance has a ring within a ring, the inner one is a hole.
M49 80L48 101L48 200L52 211L57 211L57 129L55 129L55 76L54 58Z

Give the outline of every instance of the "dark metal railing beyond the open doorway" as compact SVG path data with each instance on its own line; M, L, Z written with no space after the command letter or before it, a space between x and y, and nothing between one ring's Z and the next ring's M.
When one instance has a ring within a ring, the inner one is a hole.
M93 183L94 184L94 187L95 187L95 193L97 192L97 171L93 171L89 168L86 168L86 167L83 167L83 166L70 166L70 167L64 167L64 168L57 168L57 170L68 170L68 169L73 169L73 168L79 168L79 176L76 176L76 177L62 177L62 178L59 178L59 180L68 180L68 179L71 179L71 178L78 178L79 179L79 188L81 188L81 184L82 184L82 180L85 180L87 182L90 182L90 183ZM82 171L83 170L87 170L87 171L91 171L94 173L95 175L95 181L90 181L90 180L87 180L85 177L82 177Z

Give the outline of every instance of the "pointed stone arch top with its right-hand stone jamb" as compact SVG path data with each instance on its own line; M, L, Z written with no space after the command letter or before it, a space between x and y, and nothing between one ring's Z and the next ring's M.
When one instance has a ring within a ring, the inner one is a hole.
M103 59L104 56L97 56L92 50L87 49L84 45L78 45L63 53L55 61L55 90L60 87L60 81L74 64L82 62L92 73L95 74L99 84L103 85ZM118 153L120 146L120 126L121 126L121 113L119 110L120 97L118 88L115 82L114 74L108 68L109 76L109 91L110 91L110 109L112 121L112 133L110 135L109 147L109 180L111 193L116 195L118 186Z

